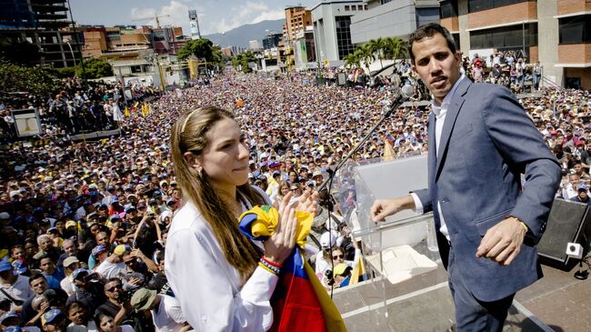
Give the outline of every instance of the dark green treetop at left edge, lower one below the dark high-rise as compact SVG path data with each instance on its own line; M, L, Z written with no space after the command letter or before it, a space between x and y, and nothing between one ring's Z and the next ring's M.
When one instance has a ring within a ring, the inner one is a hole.
M45 95L59 88L57 77L50 70L35 66L15 65L0 60L0 91L28 92Z

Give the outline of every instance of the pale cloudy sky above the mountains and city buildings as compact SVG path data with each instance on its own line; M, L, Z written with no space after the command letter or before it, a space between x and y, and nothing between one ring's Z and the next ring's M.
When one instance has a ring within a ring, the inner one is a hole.
M155 20L134 19L170 15L160 18L160 25L180 25L190 35L188 10L199 16L202 35L223 33L239 25L285 18L286 5L308 8L320 0L70 0L72 15L79 25L155 25Z

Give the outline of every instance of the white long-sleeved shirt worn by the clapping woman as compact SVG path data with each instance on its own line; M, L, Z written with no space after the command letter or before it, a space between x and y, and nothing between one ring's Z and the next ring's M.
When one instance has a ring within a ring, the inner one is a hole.
M261 195L268 197L257 187ZM242 206L243 212L251 206ZM260 241L255 245L262 246ZM265 331L273 324L270 299L278 277L262 267L243 283L215 233L192 203L175 214L165 255L166 277L195 331Z

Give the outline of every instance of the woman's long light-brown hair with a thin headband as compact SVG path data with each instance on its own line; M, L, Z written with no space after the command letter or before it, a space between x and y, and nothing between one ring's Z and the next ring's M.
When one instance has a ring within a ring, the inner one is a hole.
M185 159L185 152L200 156L209 144L207 132L225 118L234 119L232 113L214 106L205 106L186 112L175 123L171 136L172 159L176 182L184 201L193 203L201 211L215 233L224 252L225 260L240 273L243 282L255 270L262 253L238 229L238 221L230 205L219 196L209 183L205 171L201 174ZM237 186L237 194L251 205L264 205L262 196L246 182Z

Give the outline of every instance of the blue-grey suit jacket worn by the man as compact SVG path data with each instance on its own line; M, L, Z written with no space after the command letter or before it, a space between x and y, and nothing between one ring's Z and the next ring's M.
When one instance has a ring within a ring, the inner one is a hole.
M507 297L542 277L536 243L546 229L560 180L560 166L516 97L505 87L457 86L447 110L438 156L435 122L429 117L429 188L416 191L426 212L433 210L436 229L446 220L457 268L483 301ZM526 184L521 186L521 174ZM441 211L436 202L440 202ZM519 255L508 267L476 258L486 234L507 216L529 227ZM449 246L438 235L447 262Z

